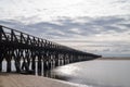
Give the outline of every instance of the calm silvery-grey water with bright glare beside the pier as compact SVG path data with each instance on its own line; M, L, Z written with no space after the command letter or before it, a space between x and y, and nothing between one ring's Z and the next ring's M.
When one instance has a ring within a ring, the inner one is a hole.
M94 60L53 70L58 78L90 87L130 87L129 60Z

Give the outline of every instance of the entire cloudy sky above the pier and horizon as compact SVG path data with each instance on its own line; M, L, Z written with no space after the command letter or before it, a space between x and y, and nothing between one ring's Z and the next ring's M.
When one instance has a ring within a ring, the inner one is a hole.
M104 57L130 57L130 0L0 0L0 25Z

